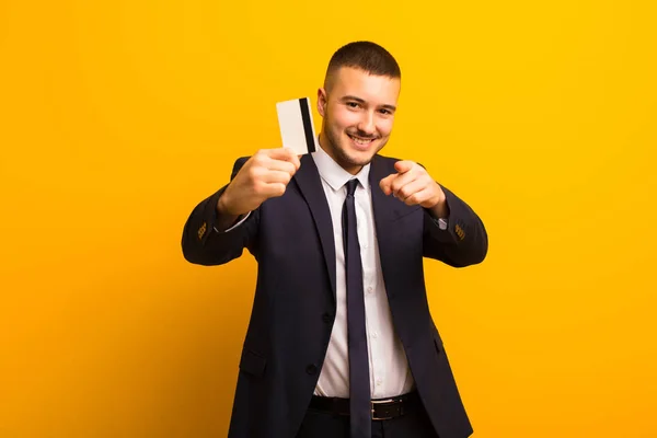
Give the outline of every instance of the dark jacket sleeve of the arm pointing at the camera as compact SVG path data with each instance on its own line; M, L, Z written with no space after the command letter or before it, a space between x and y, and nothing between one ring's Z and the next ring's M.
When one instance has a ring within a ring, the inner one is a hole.
M488 252L488 235L480 217L457 195L440 186L449 207L447 229L425 210L424 256L439 260L453 267L481 263Z

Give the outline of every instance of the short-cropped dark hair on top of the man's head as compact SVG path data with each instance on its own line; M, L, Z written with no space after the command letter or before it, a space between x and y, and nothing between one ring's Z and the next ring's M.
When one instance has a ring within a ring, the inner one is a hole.
M394 57L380 45L360 41L338 48L326 68L326 78L333 76L342 67L353 67L370 74L402 78L402 71Z

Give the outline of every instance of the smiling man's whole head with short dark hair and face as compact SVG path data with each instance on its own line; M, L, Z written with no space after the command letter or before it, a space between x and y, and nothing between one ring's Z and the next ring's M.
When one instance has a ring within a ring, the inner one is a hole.
M401 71L383 47L349 43L331 58L318 91L320 145L356 174L385 146L400 95Z

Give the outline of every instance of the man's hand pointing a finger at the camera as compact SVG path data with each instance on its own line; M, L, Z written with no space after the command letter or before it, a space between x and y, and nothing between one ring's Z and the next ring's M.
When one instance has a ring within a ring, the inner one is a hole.
M435 218L449 216L445 192L422 165L413 161L397 161L394 169L399 173L388 175L379 183L385 195L392 194L407 206L427 208Z

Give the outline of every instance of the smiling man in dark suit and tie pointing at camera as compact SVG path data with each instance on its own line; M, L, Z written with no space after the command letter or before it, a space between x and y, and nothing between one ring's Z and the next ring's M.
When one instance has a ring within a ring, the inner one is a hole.
M183 253L258 263L229 437L463 438L472 427L434 325L423 257L481 263L480 218L419 164L379 155L400 93L369 42L332 57L319 150L237 160L201 201Z

